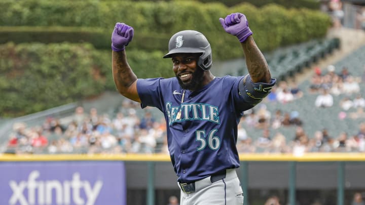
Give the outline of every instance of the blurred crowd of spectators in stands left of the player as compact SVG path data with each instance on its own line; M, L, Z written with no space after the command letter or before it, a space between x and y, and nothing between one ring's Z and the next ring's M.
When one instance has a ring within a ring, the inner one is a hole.
M131 103L133 104L133 103ZM165 122L146 111L137 117L135 107L123 107L114 118L77 107L74 115L48 117L42 126L14 125L8 151L16 153L153 153L166 152Z

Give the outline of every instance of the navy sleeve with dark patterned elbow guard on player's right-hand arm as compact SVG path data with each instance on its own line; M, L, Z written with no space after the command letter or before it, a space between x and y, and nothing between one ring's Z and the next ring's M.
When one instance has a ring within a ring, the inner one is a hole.
M232 95L236 102L236 107L247 110L260 103L271 91L276 83L272 78L270 83L253 83L249 74L238 78L233 86Z

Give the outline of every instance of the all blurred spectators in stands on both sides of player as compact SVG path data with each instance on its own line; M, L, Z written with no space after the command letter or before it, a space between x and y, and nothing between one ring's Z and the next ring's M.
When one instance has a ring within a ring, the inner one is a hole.
M309 136L303 129L298 111L269 110L269 103L290 103L304 95L317 95L313 107L339 106L343 112L339 118L365 117L365 99L359 84L364 76L352 76L346 67L335 72L315 68L308 92L299 89L296 83L280 81L267 99L258 106L244 112L238 126L237 147L241 153L251 152L349 152L365 151L365 122L358 125L356 134L341 132L330 135L325 128ZM333 97L345 96L339 105ZM356 112L347 113L349 109ZM98 113L91 108L86 111L77 107L72 116L47 117L43 125L27 127L19 122L10 135L7 152L14 153L168 153L165 119L156 119L151 109L141 110L138 103L126 100L114 116ZM141 115L137 115L137 111ZM279 128L295 128L293 136L275 132ZM255 129L258 136L249 136L246 129ZM355 132L355 131L354 131Z

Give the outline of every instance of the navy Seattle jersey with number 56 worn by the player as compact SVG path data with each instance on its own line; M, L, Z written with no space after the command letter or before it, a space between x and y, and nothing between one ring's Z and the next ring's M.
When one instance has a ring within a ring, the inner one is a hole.
M272 79L270 84L248 83L240 88L241 80L246 81L246 77L215 77L193 92L182 90L176 77L137 80L142 108L153 106L164 113L168 149L178 182L189 183L239 167L239 120L244 110L262 100L254 96L263 96L262 92L268 93L275 84Z

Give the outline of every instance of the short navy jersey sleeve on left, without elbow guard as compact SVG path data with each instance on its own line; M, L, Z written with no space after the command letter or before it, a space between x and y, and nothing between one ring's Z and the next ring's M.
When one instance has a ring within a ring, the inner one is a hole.
M148 78L137 80L137 92L141 100L141 107L157 107L162 110L161 80L164 78Z

